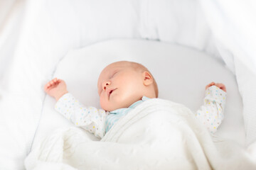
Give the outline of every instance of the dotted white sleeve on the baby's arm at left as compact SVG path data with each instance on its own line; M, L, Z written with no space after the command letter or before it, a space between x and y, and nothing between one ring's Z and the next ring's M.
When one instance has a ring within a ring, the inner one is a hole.
M106 111L94 107L85 107L70 93L64 94L55 104L55 110L96 137L105 135Z

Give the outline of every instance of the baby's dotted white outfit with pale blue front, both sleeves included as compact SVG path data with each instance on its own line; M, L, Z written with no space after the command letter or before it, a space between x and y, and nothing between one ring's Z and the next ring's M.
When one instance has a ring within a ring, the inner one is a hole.
M225 96L225 91L217 86L210 86L206 90L204 105L195 113L196 118L201 120L211 133L217 130L224 118ZM55 110L64 115L74 125L92 132L96 137L102 138L120 117L126 115L131 109L147 99L149 98L144 97L142 101L133 103L129 108L120 108L107 112L95 107L86 107L75 99L72 94L68 93L59 98L55 104Z

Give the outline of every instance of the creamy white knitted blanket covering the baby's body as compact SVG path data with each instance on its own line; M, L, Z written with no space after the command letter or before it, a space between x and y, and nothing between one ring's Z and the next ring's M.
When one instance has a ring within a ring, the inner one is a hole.
M185 106L159 98L121 118L101 141L82 130L56 130L33 149L26 169L255 169L248 154L213 142Z

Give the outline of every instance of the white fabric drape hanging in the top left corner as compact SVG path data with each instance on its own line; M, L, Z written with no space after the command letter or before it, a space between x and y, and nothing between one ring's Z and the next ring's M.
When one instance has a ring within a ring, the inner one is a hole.
M24 7L25 1L0 1L0 90L2 86L5 86L4 77L7 77L9 69L11 69L16 45L21 33Z

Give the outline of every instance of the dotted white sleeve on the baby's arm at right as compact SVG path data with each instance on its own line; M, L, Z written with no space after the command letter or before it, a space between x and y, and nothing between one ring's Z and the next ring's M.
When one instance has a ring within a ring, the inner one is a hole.
M210 86L206 90L204 104L196 112L196 117L201 120L209 132L216 132L224 118L226 92L217 86Z

